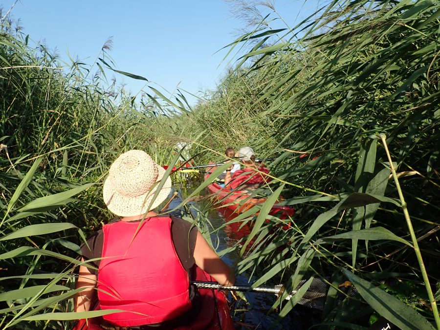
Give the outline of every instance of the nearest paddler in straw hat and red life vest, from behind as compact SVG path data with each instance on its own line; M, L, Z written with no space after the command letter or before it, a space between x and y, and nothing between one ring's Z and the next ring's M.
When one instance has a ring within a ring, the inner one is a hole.
M124 310L103 316L110 325L174 329L191 322L200 308L197 288L190 285L195 265L221 285L234 284L231 269L196 227L153 211L171 192L171 179L164 174L140 150L121 154L111 165L103 197L119 218L81 247L87 264L79 269L76 288L84 290L75 297L75 311L93 309L97 297L103 310Z

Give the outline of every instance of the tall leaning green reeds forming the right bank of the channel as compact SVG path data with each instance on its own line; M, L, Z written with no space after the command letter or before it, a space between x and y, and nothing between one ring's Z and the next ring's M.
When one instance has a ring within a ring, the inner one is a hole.
M228 54L248 50L234 58L238 65L210 100L178 117L183 135L204 132L198 144L218 154L251 145L258 155L278 155L269 167L284 185L283 204L297 210L293 225L280 230L275 217L259 223L239 271L263 268L257 284L281 278L288 291L304 276L339 273L343 282L339 267L351 269L357 286L367 288L360 300L337 298L335 282L323 316L327 325L367 326L374 309L390 318L403 315L396 322L408 327L414 313L403 312L401 302L393 302L401 313L390 315L384 312L388 298L371 299L379 294L376 281L392 273L420 284L426 271L439 282L439 10L439 2L429 0L333 1L282 37L270 26L274 10L230 45ZM378 133L387 135L406 205L383 146L371 137ZM415 266L405 208L426 270ZM255 221L252 212L237 220ZM310 263L295 271L310 245ZM367 314L350 312L365 303L373 308ZM414 316L420 327L430 327L420 320L433 320L429 304L435 302L419 306Z

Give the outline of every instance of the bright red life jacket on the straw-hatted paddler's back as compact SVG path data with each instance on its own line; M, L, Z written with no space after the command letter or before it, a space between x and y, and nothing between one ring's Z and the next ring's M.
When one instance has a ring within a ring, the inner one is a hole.
M135 327L172 320L191 308L189 276L173 244L171 221L147 218L140 228L139 222L104 225L99 304L127 310L105 315L107 321Z

